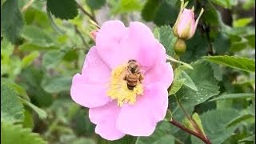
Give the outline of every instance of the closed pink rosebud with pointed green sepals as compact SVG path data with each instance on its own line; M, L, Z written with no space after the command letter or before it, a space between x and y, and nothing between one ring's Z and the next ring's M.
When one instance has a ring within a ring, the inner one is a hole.
M197 20L194 19L194 7L189 10L186 9L186 5L182 0L181 10L178 14L177 21L174 24L174 35L178 38L188 39L192 38L195 30L197 29L199 18L202 16L203 9L200 11L200 14Z

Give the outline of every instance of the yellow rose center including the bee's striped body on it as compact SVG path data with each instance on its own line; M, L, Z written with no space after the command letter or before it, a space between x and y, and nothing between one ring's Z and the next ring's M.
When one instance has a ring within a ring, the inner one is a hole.
M127 64L112 70L107 95L111 99L117 100L118 106L122 106L124 103L134 105L136 97L142 93L143 86L139 80L139 74L130 73Z

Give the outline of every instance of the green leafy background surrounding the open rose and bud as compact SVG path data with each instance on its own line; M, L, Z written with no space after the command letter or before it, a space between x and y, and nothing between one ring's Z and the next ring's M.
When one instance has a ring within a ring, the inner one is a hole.
M93 23L145 22L174 57L179 6L178 0L1 0L1 142L202 143L166 120L150 137L108 142L94 133L88 109L70 98L72 76L94 46ZM190 127L182 104L213 143L254 143L255 1L190 0L191 6L205 12L179 59L193 70L172 63L171 114Z

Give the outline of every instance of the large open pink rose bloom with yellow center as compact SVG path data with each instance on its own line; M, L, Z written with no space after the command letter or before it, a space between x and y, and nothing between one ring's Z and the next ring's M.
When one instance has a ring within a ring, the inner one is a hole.
M120 21L105 22L95 43L82 74L74 75L71 98L90 108L90 121L102 138L149 136L166 115L167 89L174 79L166 50L141 22L130 22L129 27ZM130 60L137 62L138 71L126 69ZM133 89L129 89L127 79L136 76L134 71L142 78L138 77L136 86L130 79Z

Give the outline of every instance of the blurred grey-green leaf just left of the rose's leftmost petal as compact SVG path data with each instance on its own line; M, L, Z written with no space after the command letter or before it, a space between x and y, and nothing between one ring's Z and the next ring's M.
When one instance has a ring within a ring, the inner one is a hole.
M72 77L44 78L42 88L48 93L59 93L70 90Z

